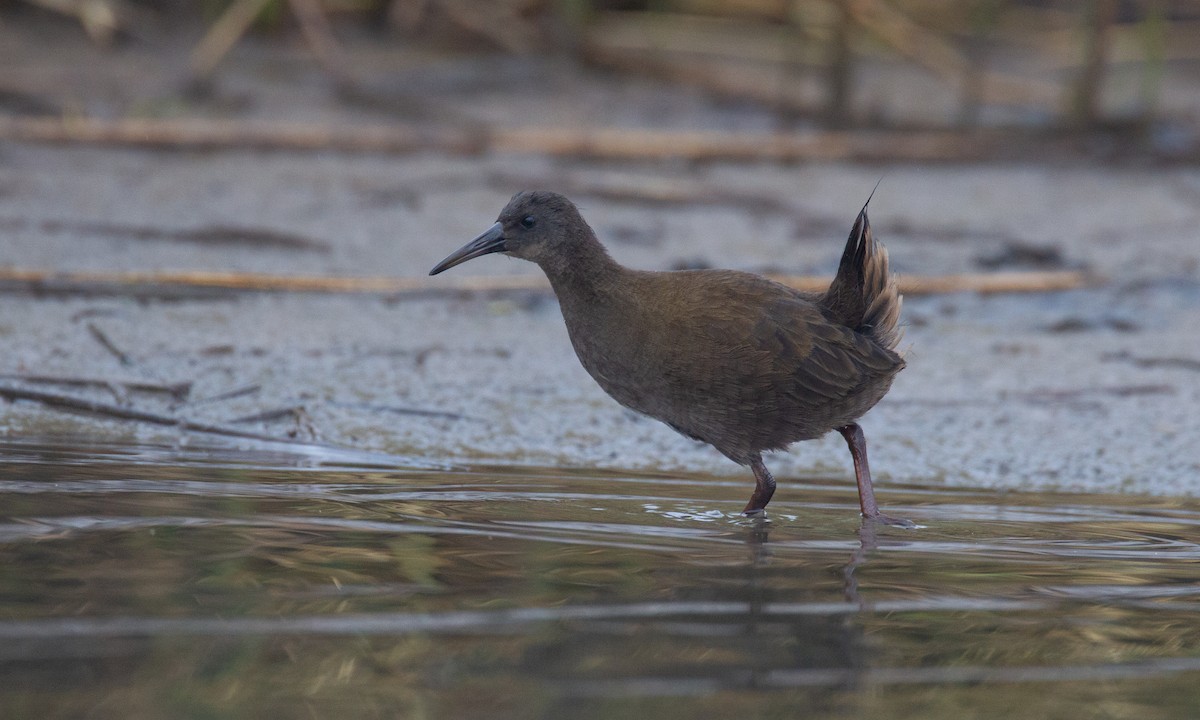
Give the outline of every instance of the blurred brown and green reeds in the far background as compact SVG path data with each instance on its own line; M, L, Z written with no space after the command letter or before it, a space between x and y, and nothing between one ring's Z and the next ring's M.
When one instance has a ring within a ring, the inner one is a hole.
M343 100L388 95L386 61L360 48L390 46L652 78L767 109L776 132L1106 133L1192 158L1200 116L1200 2L1186 0L0 1L10 38L52 22L98 52L186 49L191 101L214 96L239 46L283 41ZM0 113L70 112L0 71Z

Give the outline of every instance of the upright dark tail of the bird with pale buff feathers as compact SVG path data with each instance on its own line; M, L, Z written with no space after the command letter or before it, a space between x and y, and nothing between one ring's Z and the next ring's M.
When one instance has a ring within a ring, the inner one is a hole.
M875 191L871 191L874 197ZM826 292L823 305L830 319L895 349L900 342L900 305L904 298L888 271L888 248L875 241L863 204L850 230L838 275Z

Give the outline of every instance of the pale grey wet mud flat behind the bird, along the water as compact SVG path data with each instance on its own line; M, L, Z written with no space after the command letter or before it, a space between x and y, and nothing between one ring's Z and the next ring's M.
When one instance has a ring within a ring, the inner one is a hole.
M617 85L598 78L575 101L600 107ZM636 104L655 89L626 92ZM292 100L266 102L277 110ZM571 97L562 103L578 112ZM518 97L498 92L481 108L522 114ZM762 124L751 110L738 119L695 98L685 112L701 125ZM541 185L583 187L574 194L584 217L632 266L832 274L881 176L871 220L901 275L1021 269L1013 248L1032 246L1052 251L1042 258L1050 266L1100 278L1069 292L906 300L908 367L863 421L881 499L888 484L1200 494L1200 170L1189 167L600 163L8 143L0 145L0 266L420 277L491 224L514 192ZM620 200L586 191L598 182L689 184L731 200ZM746 197L763 202L738 199ZM452 272L536 269L496 257ZM7 376L192 383L181 404L138 391L55 390L197 422L302 408L238 426L414 462L740 474L748 491L751 482L710 448L607 398L575 360L546 294L6 292L0 341ZM212 400L246 388L254 389ZM0 403L0 433L191 437L29 402ZM784 493L788 476L852 481L836 436L796 445L770 467Z

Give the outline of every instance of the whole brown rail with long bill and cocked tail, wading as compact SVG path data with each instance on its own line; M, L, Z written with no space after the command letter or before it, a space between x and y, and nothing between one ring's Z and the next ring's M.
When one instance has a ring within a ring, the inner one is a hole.
M493 252L541 266L580 362L617 402L750 466L746 515L763 512L775 492L764 450L836 430L854 461L863 516L911 524L875 504L854 422L905 366L894 349L901 296L866 205L823 294L736 270L624 268L570 200L544 191L514 196L496 224L430 275Z

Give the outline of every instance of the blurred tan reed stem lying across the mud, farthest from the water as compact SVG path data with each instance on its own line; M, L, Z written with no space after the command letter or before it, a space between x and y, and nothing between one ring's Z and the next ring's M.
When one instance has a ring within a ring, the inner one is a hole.
M0 118L0 140L157 149L541 154L604 160L946 162L1040 149L1027 132L762 132L617 127L326 126L214 119Z

